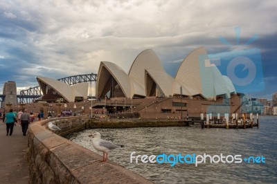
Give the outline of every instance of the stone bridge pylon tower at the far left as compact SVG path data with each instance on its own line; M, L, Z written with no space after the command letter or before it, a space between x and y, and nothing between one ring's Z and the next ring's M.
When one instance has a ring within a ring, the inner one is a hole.
M6 104L17 104L17 84L14 81L5 82L3 86L3 95L6 95L1 107L6 107Z

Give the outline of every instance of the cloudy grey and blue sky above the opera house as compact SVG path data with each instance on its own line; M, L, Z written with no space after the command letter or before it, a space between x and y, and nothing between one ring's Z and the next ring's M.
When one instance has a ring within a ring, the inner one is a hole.
M8 80L20 90L37 86L35 76L97 73L101 61L128 71L148 48L175 75L199 46L222 53L257 35L247 48L260 49L265 89L251 95L271 98L277 91L276 11L274 0L0 0L0 93ZM239 44L234 28L240 28Z

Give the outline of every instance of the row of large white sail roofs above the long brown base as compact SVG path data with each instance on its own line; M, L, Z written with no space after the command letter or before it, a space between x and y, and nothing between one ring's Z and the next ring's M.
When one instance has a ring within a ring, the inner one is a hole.
M229 79L208 60L204 47L193 50L181 62L175 77L164 70L153 50L143 50L125 73L120 66L101 62L96 84L98 98L145 98L174 95L200 96L215 100L217 95L230 98L235 88Z

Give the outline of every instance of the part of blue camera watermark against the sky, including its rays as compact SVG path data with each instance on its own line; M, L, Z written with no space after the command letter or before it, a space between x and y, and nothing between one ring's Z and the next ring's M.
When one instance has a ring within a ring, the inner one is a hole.
M240 28L235 28L235 33L236 44L240 44ZM223 37L219 39L223 44L232 46ZM251 93L265 89L260 49L245 48L256 39L257 35L251 37L244 44L244 48L208 55L211 64L215 64L222 75L229 77L238 93Z

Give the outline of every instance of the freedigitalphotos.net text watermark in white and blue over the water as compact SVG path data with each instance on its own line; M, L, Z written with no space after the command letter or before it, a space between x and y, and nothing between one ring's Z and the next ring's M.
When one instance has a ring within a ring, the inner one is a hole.
M264 156L248 156L242 157L242 155L210 155L210 154L159 154L159 155L136 155L136 152L133 151L130 154L130 163L168 163L171 167L175 166L177 163L181 164L194 164L197 167L199 164L203 163L265 163Z

